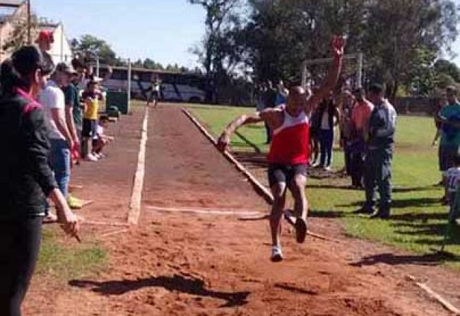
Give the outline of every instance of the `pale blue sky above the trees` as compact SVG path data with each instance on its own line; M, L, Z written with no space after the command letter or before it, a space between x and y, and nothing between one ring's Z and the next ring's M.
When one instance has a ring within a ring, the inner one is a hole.
M454 0L460 6L460 0ZM91 34L122 58L194 68L189 51L204 36L205 11L187 0L31 0L39 16L64 23L69 40ZM83 5L84 4L84 5ZM452 44L460 66L460 35Z

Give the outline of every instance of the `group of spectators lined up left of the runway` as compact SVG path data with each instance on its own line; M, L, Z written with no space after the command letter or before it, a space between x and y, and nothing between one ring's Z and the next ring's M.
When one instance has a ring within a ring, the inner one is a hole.
M71 209L83 202L69 194L72 167L103 158L113 140L104 133L108 117L99 117L100 79L78 59L54 64L52 33L36 42L1 64L0 315L20 315L44 221L79 240Z

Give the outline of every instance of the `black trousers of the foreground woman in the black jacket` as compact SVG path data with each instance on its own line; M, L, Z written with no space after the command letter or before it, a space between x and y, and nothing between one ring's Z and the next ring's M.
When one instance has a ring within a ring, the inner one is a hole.
M42 218L0 221L0 315L20 316L42 239Z

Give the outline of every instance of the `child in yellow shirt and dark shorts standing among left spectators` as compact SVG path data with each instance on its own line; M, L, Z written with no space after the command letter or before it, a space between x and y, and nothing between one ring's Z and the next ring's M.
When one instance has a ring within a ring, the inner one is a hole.
M94 148L89 151L90 139L96 136L96 128L98 124L98 111L99 111L99 100L102 100L102 94L98 90L98 83L96 81L90 81L88 83L88 89L83 92L82 95L84 103L84 114L83 114L83 156L85 160L97 161L98 158L93 155Z

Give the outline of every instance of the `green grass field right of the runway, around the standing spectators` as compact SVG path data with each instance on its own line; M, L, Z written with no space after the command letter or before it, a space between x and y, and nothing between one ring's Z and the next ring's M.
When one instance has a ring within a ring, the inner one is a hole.
M191 107L201 122L218 135L234 118L248 108L194 106ZM262 125L240 129L244 138L253 145L233 136L234 151L254 151L254 146L266 151L265 131ZM437 148L430 146L435 127L429 117L399 117L396 132L396 149L393 160L393 209L389 221L369 220L353 215L364 199L364 192L344 188L349 179L310 179L307 197L311 204L311 216L340 218L349 235L382 242L416 254L430 254L442 243L447 209L438 203L442 188L437 170ZM334 168L343 167L343 153L335 151ZM446 250L453 257L441 258L447 265L460 269L460 230L454 229ZM415 261L430 259L415 255Z

